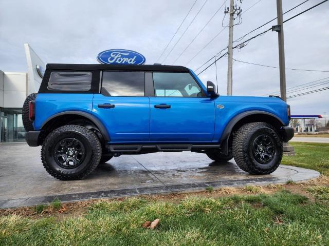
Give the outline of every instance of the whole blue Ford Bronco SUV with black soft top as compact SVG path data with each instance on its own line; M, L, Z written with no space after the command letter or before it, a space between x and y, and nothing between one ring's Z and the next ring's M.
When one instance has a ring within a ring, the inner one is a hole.
M251 174L280 165L290 108L279 97L220 96L188 68L48 64L23 106L29 146L55 178L86 177L123 154L193 151Z

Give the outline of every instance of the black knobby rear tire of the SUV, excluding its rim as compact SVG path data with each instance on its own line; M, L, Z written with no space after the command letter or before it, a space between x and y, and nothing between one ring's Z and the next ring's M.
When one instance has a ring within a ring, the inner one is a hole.
M79 166L63 168L54 155L55 147L63 139L74 138L81 142L85 156ZM102 146L97 135L89 129L78 125L66 125L53 130L44 140L41 159L47 172L61 180L83 179L93 172L102 157Z

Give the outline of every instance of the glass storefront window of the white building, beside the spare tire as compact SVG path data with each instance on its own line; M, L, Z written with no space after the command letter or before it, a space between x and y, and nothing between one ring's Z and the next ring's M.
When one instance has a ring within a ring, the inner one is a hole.
M22 109L0 109L0 142L24 142Z

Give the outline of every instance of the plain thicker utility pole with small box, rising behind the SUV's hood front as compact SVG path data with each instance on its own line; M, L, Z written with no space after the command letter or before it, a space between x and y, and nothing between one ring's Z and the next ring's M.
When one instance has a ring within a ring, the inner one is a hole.
M280 92L281 98L287 101L286 93L286 67L284 60L284 35L283 35L283 14L282 14L282 0L277 0L277 13L278 13L278 26L280 26L280 31L278 31L279 39L279 67L280 67Z

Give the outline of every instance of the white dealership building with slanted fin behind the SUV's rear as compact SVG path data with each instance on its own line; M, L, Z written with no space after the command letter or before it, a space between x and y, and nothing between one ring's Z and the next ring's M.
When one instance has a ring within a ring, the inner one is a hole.
M0 70L0 142L25 141L22 106L27 95L37 92L45 64L28 44L24 45L28 72Z

